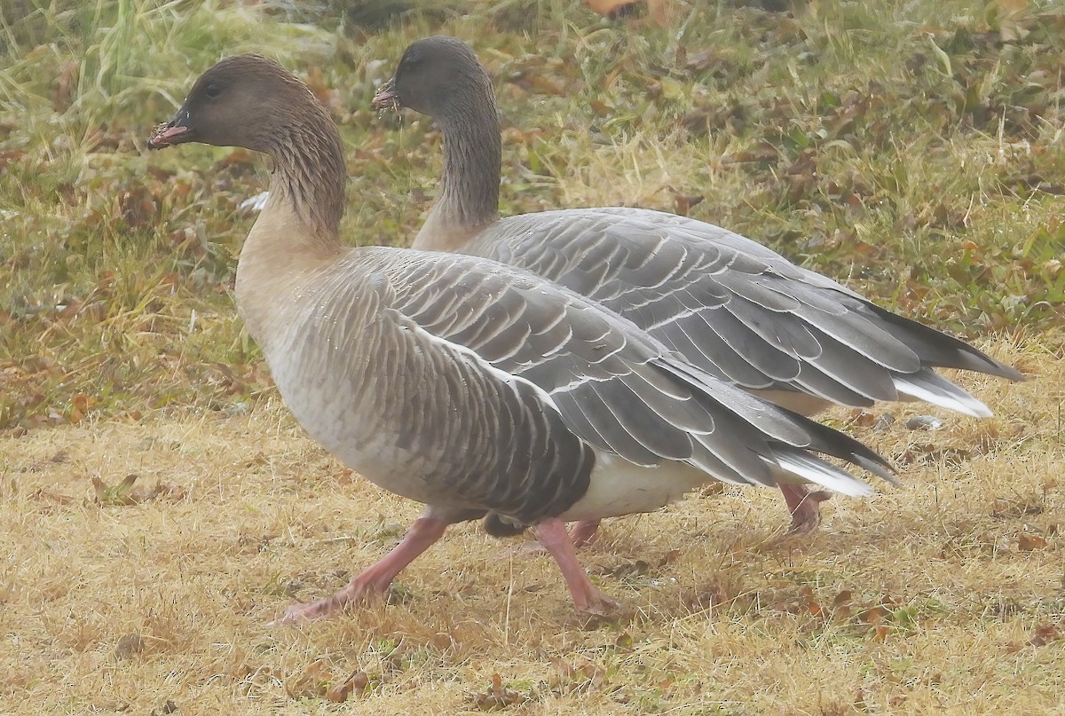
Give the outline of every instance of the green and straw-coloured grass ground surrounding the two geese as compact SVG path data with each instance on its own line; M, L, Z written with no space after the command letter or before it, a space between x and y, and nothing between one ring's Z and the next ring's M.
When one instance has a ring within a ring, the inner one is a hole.
M1065 15L673 4L668 28L562 0L0 9L0 711L333 713L345 688L366 713L1060 711ZM906 487L834 500L812 538L775 542L760 491L612 522L584 558L617 623L460 526L392 604L266 625L416 507L308 441L242 332L239 205L264 163L144 140L219 56L277 56L341 125L347 235L402 245L440 136L368 99L430 33L496 78L505 213L689 213L1035 379L969 379L996 418L936 433L831 416Z

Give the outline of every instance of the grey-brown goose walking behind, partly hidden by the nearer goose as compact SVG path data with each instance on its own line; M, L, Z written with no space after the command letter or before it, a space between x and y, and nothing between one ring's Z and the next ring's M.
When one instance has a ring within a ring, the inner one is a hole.
M835 403L927 401L990 410L933 369L1023 377L962 341L896 315L744 237L685 216L620 207L498 218L499 123L488 72L468 45L407 48L374 97L432 116L443 188L413 247L482 256L594 298L707 373L803 414ZM824 492L782 485L789 532L819 521ZM574 535L590 538L594 523Z

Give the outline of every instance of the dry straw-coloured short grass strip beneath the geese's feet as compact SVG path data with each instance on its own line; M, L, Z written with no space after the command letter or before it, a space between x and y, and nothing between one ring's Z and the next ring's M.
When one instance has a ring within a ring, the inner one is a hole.
M1065 713L1062 339L986 347L1035 379L968 381L989 421L854 424L904 487L837 498L812 537L776 540L782 505L753 489L612 521L584 560L615 623L576 619L548 557L464 525L393 603L269 625L417 511L276 398L0 438L0 712ZM101 504L93 478L129 474ZM346 704L321 698L353 673Z

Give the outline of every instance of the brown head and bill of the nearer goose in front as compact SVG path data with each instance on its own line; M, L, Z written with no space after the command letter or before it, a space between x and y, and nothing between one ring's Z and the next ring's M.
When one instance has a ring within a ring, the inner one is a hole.
M155 129L148 147L201 142L269 152L293 124L323 117L328 119L307 85L281 65L261 54L239 54L196 80L185 103Z

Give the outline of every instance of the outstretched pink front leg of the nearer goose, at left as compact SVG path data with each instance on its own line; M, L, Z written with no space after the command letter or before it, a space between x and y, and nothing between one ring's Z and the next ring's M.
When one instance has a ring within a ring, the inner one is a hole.
M383 593L396 574L440 539L446 528L447 522L442 520L431 517L417 518L395 549L379 559L377 564L363 570L361 574L332 597L306 604L290 604L285 608L280 623L291 624L311 619L334 617L348 604L362 601L371 595Z

